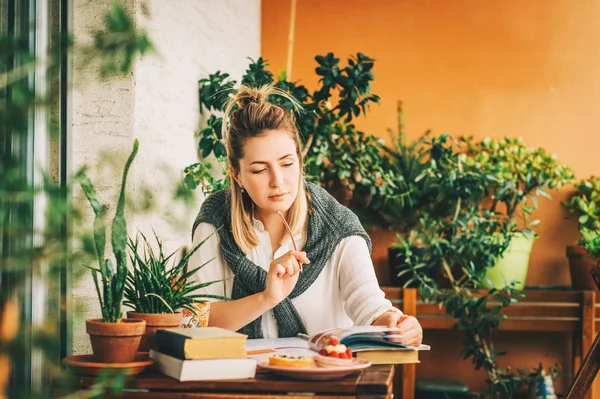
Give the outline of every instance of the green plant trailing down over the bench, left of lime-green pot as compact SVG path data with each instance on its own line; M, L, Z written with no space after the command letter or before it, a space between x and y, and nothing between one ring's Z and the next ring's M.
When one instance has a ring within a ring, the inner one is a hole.
M456 319L456 328L464 332L463 357L471 359L475 369L486 371L490 392L510 397L522 379L498 367L501 353L494 348L492 333L504 318L502 310L524 294L514 284L482 289L486 269L496 263L514 234L507 215L483 206L496 187L497 170L464 162L460 141L449 135L422 143L427 150L415 181L428 179L437 193L434 198L443 198L449 212L440 217L424 211L412 234L398 237L396 247L405 263L398 274L406 274L407 285L416 283L425 301L443 306ZM435 277L440 274L446 283Z

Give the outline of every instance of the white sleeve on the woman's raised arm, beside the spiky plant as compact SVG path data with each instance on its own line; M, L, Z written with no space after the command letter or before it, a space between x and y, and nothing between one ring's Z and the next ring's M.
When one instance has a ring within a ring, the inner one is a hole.
M193 270L203 264L190 278L198 282L219 281L209 286L200 288L195 293L220 295L227 298L231 297L231 286L233 284L233 273L229 266L223 260L221 249L219 247L219 235L215 227L209 223L200 223L194 232L194 240L192 248L195 248L202 240L206 241L200 248L190 257L188 270ZM208 262L208 263L207 263ZM216 301L217 299L210 299Z

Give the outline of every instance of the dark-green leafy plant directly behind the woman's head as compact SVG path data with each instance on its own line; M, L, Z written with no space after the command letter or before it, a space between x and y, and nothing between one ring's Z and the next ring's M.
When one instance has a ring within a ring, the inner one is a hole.
M273 96L270 101L294 113L302 141L307 178L326 187L339 201L348 205L365 223L388 199L399 195L394 171L390 167L385 146L379 139L356 129L352 120L365 114L370 104L379 103L371 94L374 60L358 53L340 66L332 53L315 57L319 86L312 93L286 80L277 79L267 70L262 58L252 61L243 84L262 86L272 84L290 93L301 105L296 109L289 100ZM201 163L185 169L189 188L200 186L205 193L227 187L227 168L222 162L225 147L221 135L222 118L215 113L224 110L228 95L237 82L227 73L217 71L199 81L200 112L212 113L207 126L197 133ZM220 159L222 179L214 178L206 158Z

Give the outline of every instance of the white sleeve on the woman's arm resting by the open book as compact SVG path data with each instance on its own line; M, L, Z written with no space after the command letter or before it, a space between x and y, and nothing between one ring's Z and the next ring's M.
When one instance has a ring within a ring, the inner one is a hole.
M351 236L336 248L340 293L344 310L354 325L370 325L384 312L400 312L385 299L375 275L369 247L364 238Z

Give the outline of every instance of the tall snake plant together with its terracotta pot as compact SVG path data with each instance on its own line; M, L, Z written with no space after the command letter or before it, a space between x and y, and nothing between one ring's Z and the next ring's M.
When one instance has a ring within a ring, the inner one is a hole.
M105 209L96 196L96 189L84 170L77 175L83 192L95 214L93 246L98 259L98 268L90 267L92 278L98 293L101 319L86 320L86 329L90 335L94 359L101 363L132 362L138 352L140 340L146 329L146 322L138 319L121 319L121 304L127 281L127 224L125 221L125 184L131 163L139 143L133 143L121 180L121 192L112 222L111 244L114 258L104 258L106 227Z

